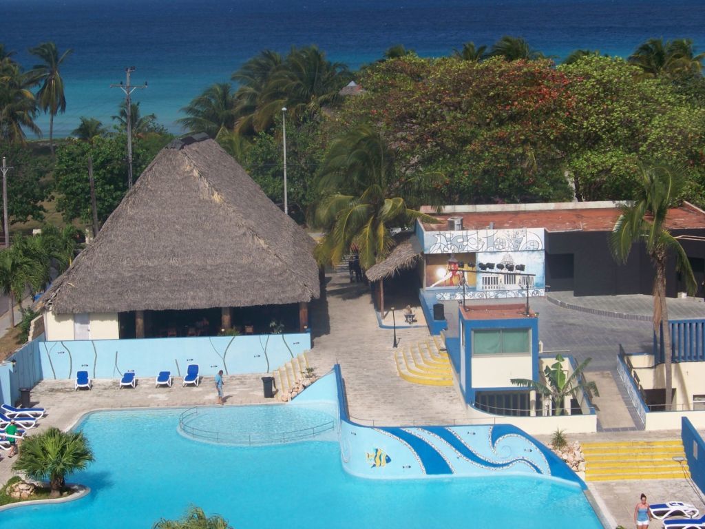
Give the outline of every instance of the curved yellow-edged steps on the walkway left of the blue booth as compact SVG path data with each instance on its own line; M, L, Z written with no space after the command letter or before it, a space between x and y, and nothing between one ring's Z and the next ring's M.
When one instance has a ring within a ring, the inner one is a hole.
M453 367L439 336L417 341L394 352L399 376L413 384L452 386Z

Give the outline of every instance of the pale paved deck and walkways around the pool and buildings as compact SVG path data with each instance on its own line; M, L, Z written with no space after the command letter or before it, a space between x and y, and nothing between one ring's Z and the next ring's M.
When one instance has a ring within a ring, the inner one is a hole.
M640 310L643 310L648 303L644 298L623 298L625 296L604 296L598 304L608 310L613 300L617 304L613 312L622 312L625 305L638 303ZM683 308L688 315L705 308L705 305L694 303L694 300L674 301L687 303ZM590 355L594 358L592 365L596 372L609 374L613 369L618 343L625 343L632 349L651 343L649 322L578 312L545 299L532 299L531 303L532 307L541 311L540 332L547 348L570 349L578 358ZM580 303L580 298L570 299L570 303ZM364 284L350 284L347 269L341 274L329 273L325 295L312 304L311 322L314 348L308 354L309 364L317 368L317 375L324 375L333 364L340 363L348 408L356 422L363 425L430 425L462 423L467 418L465 406L455 387L420 386L398 377L393 360L393 331L379 327L369 288ZM573 322L580 322L580 325ZM591 329L599 329L600 332L594 334ZM397 328L402 346L427 336L426 329L404 327L403 324ZM261 376L225 377L226 406L278 402L277 399L264 399ZM155 388L152 377L139 377L138 374L137 379L135 389L118 389L117 380L99 379L94 382L91 391L74 391L71 380L39 383L32 389L32 401L47 407L49 414L40 421L38 431L47 426L66 429L83 414L98 409L190 407L215 403L216 391L212 378L203 379L199 387L185 388L181 387L180 379L175 379L171 388ZM624 405L621 403L620 406ZM604 412L601 413L610 413L604 406L602 409ZM618 411L620 415L611 418L610 424L626 420L623 409ZM680 432L635 430L569 436L569 440L574 439L582 442L680 439ZM547 442L548 437L540 436L539 440ZM13 475L12 461L6 457L0 461L0 482L6 482ZM699 491L694 490L685 479L589 482L589 489L608 521L614 524L613 527L617 524L633 526L633 509L642 492L652 503L688 501L705 513L705 503ZM651 524L651 527L656 526L656 522Z

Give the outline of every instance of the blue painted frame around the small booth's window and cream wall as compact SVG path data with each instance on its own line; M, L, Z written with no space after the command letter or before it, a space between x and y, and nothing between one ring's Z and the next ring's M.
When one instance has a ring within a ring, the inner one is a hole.
M460 390L465 387L465 402L474 404L475 393L477 390L498 388L472 387L472 331L477 329L531 329L532 337L532 379L539 379L539 318L537 317L518 317L502 320L463 320L462 308L458 309L458 319L463 321L458 327L464 329L465 332L465 351L460 351L461 355L465 355L465 372L460 373L460 377L465 382L460 383ZM460 366L460 361L458 361ZM513 391L517 387L511 388Z

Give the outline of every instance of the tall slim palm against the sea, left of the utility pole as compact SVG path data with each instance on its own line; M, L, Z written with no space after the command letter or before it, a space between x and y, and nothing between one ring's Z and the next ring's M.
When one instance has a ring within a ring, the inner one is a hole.
M66 97L63 93L63 79L59 67L73 53L69 48L59 56L59 49L54 42L43 42L35 48L30 48L30 54L42 59L43 63L32 69L37 81L42 84L37 92L37 104L46 114L49 112L49 149L54 154L54 116L66 111Z

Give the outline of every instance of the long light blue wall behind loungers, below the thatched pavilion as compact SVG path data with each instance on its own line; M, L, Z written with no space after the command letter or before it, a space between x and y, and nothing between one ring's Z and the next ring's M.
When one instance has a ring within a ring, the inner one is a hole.
M308 333L44 341L39 343L39 360L44 379L74 379L81 370L91 378L119 378L129 370L138 378L164 370L180 377L194 363L201 375L221 369L226 375L241 375L271 372L310 348Z

